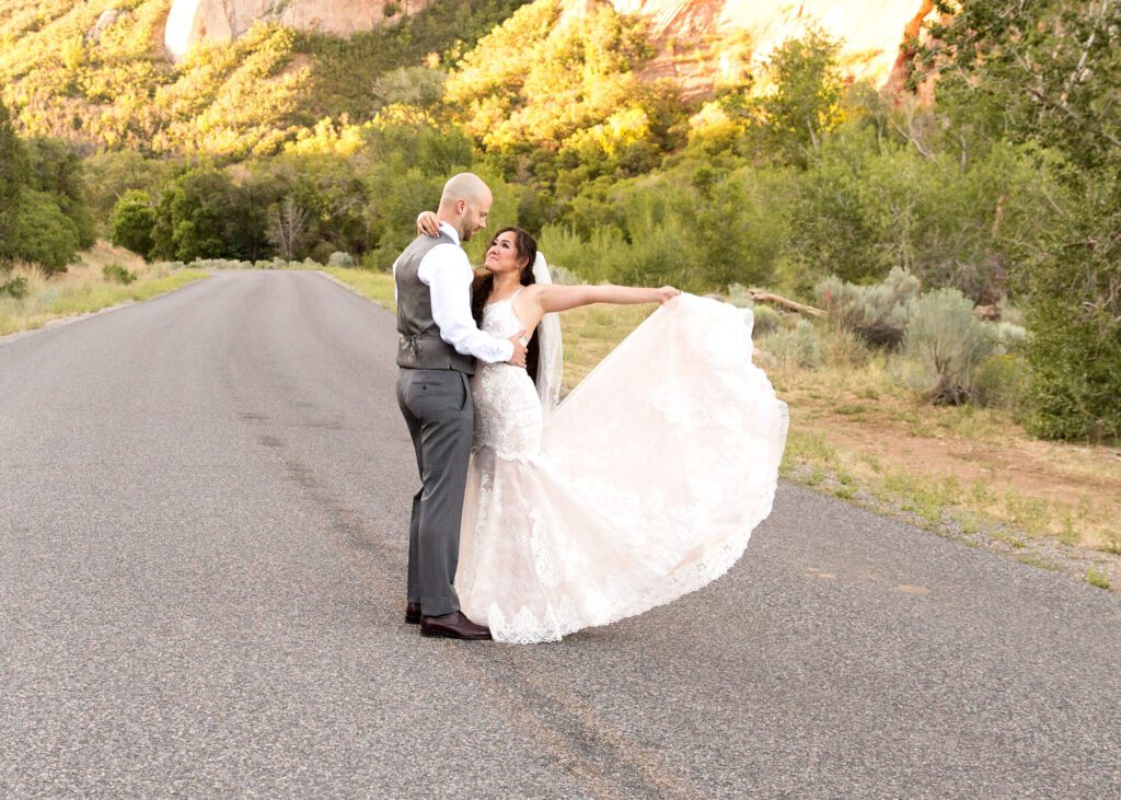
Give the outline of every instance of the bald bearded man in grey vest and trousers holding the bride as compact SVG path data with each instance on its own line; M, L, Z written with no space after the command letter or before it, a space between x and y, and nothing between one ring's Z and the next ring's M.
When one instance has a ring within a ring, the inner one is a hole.
M413 437L423 483L409 524L405 622L426 636L490 639L460 611L452 585L474 412L467 376L475 359L526 365L525 332L509 339L483 333L471 316L474 273L460 244L487 227L492 196L461 173L439 199L439 236L418 235L393 262L397 283L397 402Z

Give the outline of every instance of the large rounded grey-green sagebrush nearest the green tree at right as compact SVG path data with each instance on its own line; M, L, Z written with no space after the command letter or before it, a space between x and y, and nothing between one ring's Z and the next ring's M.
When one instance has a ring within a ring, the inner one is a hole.
M978 368L995 342L957 289L939 289L908 303L904 337L907 382L933 403L960 404L976 397Z

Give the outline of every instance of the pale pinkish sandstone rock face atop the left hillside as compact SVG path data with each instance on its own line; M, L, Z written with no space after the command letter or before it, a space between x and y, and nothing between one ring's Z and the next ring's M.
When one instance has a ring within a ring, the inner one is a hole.
M198 41L223 41L244 34L257 20L278 21L300 30L350 36L372 30L401 15L413 15L430 0L174 0L164 46L174 61Z

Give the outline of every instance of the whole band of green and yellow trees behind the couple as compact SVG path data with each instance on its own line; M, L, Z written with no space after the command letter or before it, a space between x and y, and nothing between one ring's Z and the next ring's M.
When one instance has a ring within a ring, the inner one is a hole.
M492 218L584 280L828 305L906 273L1015 306L1029 427L1117 438L1121 10L944 4L911 63L932 105L847 81L819 30L685 103L638 78L650 45L609 4L557 25L558 0L436 3L352 41L259 26L174 68L151 53L151 2L61 57L0 18L21 133L0 111L0 258L57 269L98 221L149 259L342 251L387 269L472 169Z

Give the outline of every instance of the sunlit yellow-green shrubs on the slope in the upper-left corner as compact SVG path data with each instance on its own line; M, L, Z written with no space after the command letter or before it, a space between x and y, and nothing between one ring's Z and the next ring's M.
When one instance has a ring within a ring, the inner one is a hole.
M3 97L24 131L216 156L275 151L293 136L309 81L307 68L291 68L293 31L258 26L173 65L163 50L167 7L161 0L3 4ZM109 9L120 12L117 21L86 40Z

